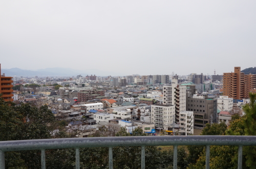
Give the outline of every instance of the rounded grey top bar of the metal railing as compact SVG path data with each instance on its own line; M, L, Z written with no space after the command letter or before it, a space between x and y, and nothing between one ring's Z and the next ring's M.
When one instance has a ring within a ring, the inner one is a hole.
M0 142L2 151L66 149L82 147L226 145L256 146L256 136L126 136L30 139Z

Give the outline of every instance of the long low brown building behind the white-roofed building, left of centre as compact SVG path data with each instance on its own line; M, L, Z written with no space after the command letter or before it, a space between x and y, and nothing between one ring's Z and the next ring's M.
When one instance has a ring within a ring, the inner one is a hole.
M83 92L78 92L77 99L78 102L85 102L92 99L106 99L104 90L88 90Z

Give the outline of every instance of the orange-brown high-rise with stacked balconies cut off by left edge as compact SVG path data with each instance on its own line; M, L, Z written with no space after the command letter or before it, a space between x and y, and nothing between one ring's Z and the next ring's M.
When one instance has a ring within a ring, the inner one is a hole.
M1 97L5 101L13 101L13 90L12 90L12 77L5 77L1 74L1 64L0 64L0 93L3 94Z

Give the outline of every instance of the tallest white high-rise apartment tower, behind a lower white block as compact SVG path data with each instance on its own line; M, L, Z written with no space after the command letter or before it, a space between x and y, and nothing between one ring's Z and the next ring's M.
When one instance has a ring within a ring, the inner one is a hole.
M176 123L180 112L186 111L186 87L178 85L178 79L172 80L172 86L163 87L163 104L175 105Z

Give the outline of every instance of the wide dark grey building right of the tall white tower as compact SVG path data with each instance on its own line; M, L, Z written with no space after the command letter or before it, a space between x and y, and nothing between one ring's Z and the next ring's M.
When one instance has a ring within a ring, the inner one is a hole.
M204 96L188 97L186 110L194 111L194 126L205 127L207 123L217 123L217 99Z

